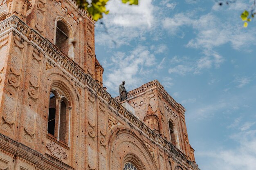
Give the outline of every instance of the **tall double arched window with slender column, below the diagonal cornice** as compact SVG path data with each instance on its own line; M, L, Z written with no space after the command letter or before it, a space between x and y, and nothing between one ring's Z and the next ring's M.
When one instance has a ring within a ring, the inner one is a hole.
M72 107L65 96L59 89L50 92L47 133L69 145Z

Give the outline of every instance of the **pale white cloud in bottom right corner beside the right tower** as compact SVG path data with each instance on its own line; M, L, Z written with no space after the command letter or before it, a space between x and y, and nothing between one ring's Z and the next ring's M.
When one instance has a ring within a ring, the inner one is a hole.
M237 147L220 148L198 152L200 157L210 157L208 170L255 170L256 167L256 130L239 132L230 137Z

